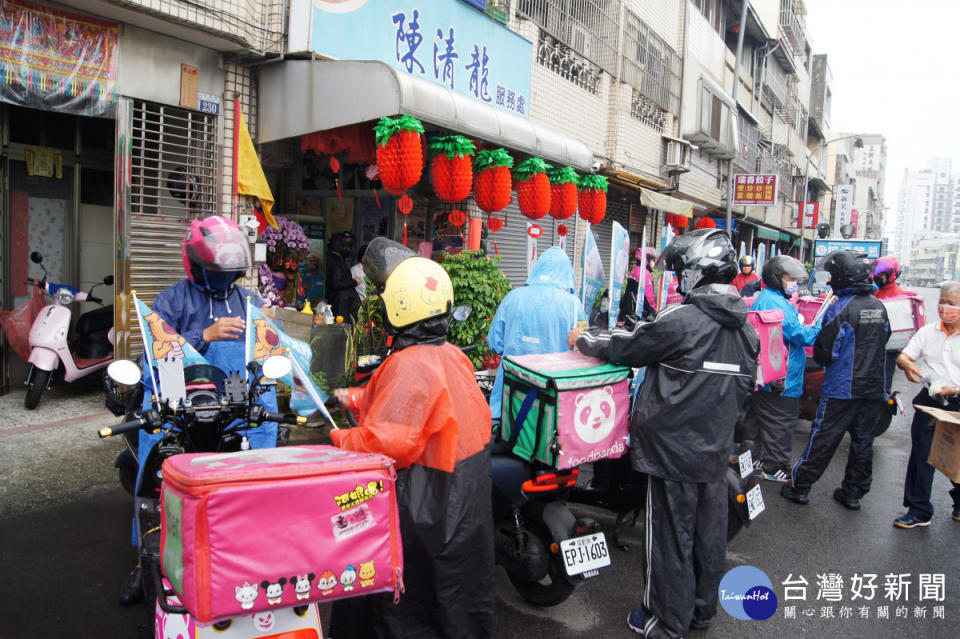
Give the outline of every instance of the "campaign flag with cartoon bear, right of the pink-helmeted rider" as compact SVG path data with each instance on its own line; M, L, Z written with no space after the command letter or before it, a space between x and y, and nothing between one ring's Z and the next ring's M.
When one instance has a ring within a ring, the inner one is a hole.
M269 317L247 300L247 361L263 362L271 355L285 355L293 372L280 381L290 387L290 408L298 415L312 415L317 409L333 424L324 403L329 397L317 388L307 371L313 351L310 345L284 333Z

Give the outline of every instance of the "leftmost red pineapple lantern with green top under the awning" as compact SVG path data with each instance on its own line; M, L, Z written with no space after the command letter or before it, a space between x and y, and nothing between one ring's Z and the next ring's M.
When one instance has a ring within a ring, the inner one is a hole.
M409 115L380 118L373 127L377 135L377 168L383 188L400 195L423 173L423 124Z

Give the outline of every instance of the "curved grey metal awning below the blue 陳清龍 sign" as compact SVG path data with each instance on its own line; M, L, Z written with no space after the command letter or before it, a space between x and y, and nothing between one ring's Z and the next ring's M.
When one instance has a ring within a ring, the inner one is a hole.
M384 62L285 60L261 68L259 93L258 143L406 113L548 162L593 167L580 140Z

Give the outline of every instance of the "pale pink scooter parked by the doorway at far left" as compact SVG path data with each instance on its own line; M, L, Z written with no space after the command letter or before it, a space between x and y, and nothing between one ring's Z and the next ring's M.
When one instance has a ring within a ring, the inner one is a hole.
M113 304L103 306L103 300L94 297L93 289L99 284L95 284L90 292L84 292L67 284L48 282L43 256L34 251L30 260L43 269L43 279L28 279L27 282L40 287L53 300L40 311L30 329L28 361L31 366L23 405L32 410L40 403L43 391L50 387L53 372L61 362L64 381L72 382L105 368L113 361ZM113 284L113 275L103 278L103 284ZM68 341L72 315L70 304L85 301L95 302L103 308L81 315L74 336Z

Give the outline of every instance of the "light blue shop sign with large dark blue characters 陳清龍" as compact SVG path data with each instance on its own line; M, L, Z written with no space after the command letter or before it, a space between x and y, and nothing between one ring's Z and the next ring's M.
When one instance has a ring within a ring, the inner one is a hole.
M338 60L380 60L530 117L533 44L463 2L313 0L310 48Z

